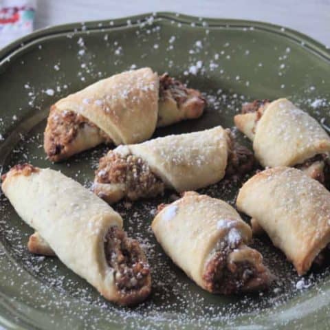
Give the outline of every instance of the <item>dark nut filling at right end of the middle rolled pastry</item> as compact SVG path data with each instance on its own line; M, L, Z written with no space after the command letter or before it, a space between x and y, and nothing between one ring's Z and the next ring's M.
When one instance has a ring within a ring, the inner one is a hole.
M230 131L229 136L229 153L225 175L228 177L232 175L244 175L254 168L254 155L248 148L237 143Z

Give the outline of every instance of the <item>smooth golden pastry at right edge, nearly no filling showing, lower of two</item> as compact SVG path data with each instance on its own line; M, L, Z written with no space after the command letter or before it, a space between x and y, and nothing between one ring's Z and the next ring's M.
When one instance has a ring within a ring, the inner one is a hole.
M296 168L275 167L249 179L237 208L267 232L299 275L320 264L330 243L330 192Z

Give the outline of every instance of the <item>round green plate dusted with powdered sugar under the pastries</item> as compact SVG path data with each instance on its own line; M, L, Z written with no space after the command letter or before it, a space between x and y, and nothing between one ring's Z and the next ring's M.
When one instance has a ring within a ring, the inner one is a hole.
M165 12L74 23L35 32L0 52L1 170L31 162L89 186L107 148L48 162L42 144L50 104L100 78L144 66L200 89L209 103L199 120L158 129L155 136L231 127L241 104L254 98L285 96L325 128L330 123L330 52L298 32ZM233 204L240 186L227 180L201 192ZM329 329L329 270L314 270L301 280L270 241L254 241L278 278L268 292L215 296L188 280L150 228L157 204L175 198L173 192L115 206L153 266L153 294L132 309L108 303L57 259L29 254L32 230L0 198L0 324L8 329Z

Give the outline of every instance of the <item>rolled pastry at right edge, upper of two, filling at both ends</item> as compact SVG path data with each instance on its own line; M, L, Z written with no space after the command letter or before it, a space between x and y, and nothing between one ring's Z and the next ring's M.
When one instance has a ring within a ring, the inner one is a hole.
M245 104L234 122L253 141L255 156L264 167L294 166L322 183L327 181L330 137L289 100Z

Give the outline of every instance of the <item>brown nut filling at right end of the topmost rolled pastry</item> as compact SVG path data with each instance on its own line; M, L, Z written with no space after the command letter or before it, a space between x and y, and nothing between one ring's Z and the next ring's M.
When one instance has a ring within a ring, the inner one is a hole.
M206 105L206 100L196 89L187 88L181 81L171 78L168 74L163 74L159 78L159 98L173 98L177 102L177 107L181 107L188 98L197 98L201 106Z

